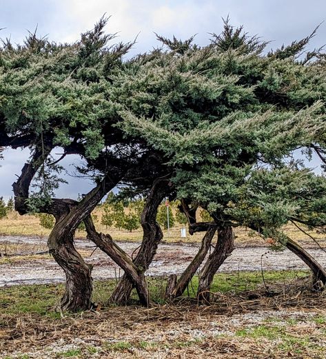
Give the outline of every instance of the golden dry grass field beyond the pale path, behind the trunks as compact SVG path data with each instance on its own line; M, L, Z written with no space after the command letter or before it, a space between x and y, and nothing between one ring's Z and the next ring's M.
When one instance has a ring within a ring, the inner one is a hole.
M105 234L110 233L114 240L128 240L128 241L141 241L143 232L141 228L136 229L132 232L128 232L126 230L119 230L117 228L111 227L106 228L105 225L101 225L101 216L103 214L103 209L98 207L94 210L93 215L97 216L97 222L95 223L96 229L99 232L103 232ZM176 223L170 232L164 230L164 238L163 240L175 243L185 241L188 243L198 243L201 241L203 234L196 233L193 236L190 236L187 233L187 238L181 238L181 228L183 225ZM326 234L320 234L316 231L309 231L305 228L305 232L307 232L310 236L313 236L318 240L320 245L326 246ZM306 234L297 229L294 225L289 224L285 227L285 231L287 235L294 239L298 240L301 244L306 247L316 247L316 243L309 238ZM244 227L238 227L235 229L236 232L236 243L238 245L266 245L266 243L259 238L258 236L252 236L252 232ZM0 219L0 235L4 236L48 236L50 234L50 229L46 229L40 225L40 220L38 216L34 216L31 214L26 214L24 216L20 216L17 212L11 212L8 214L6 218ZM77 238L85 238L86 233L83 230L77 230L76 232Z

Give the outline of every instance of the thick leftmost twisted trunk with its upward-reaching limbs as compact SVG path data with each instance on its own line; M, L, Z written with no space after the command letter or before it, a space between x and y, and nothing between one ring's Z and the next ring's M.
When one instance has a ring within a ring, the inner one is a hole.
M32 161L23 166L21 176L13 184L15 208L20 214L26 214L29 188L32 178L50 153L50 147L42 152L35 150ZM90 215L101 198L119 181L119 176L110 173L94 187L83 201L78 203L70 199L53 198L52 203L40 209L40 212L53 214L56 224L48 238L49 252L65 271L65 294L61 300L61 309L79 311L92 307L92 266L87 265L74 248L74 232L79 223Z

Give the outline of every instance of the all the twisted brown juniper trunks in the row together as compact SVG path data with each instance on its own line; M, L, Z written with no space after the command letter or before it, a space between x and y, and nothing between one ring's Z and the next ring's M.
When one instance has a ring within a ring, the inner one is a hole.
M14 183L15 207L20 214L28 212L27 199L32 178L41 166L42 158L48 156L50 149L42 152L35 151L32 161L24 165L21 176ZM145 279L150 263L154 259L156 249L163 238L163 232L156 222L159 205L165 196L172 192L172 183L165 178L157 178L150 189L141 214L143 240L135 258L131 258L121 249L109 234L96 232L90 216L94 207L101 201L117 183L120 176L110 173L85 195L81 202L69 199L53 198L50 205L41 208L41 212L53 214L56 223L48 238L50 254L63 269L66 276L65 294L61 300L61 309L79 311L91 309L92 303L92 265L85 263L77 249L74 247L74 233L84 221L88 239L92 240L105 254L125 272L116 285L111 302L122 305L128 302L132 289L135 288L141 305L150 306L150 294ZM183 274L177 278L170 276L167 281L166 298L177 298L183 294L190 284L193 276L198 273L197 297L201 302L210 302L210 287L214 275L223 264L227 256L234 249L234 231L232 225L216 222L197 223L196 209L198 206L181 201L183 212L190 225L190 234L205 232L198 253L187 266ZM256 228L252 228L256 229ZM212 246L212 240L217 232L217 240L212 253L207 257ZM298 243L288 238L287 248L299 256L312 269L316 283L326 283L326 271L305 251ZM205 258L207 260L205 261ZM204 263L205 261L205 263Z

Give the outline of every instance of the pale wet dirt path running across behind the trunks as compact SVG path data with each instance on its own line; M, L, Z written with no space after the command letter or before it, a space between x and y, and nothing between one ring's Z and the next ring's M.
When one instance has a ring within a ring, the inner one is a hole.
M0 236L0 244L8 245L26 243L41 248L46 247L45 238L37 237L8 237ZM139 247L140 243L119 243L128 254ZM95 280L119 278L123 271L99 249L94 251L94 246L86 240L76 240L76 246L83 252L87 263L94 265L93 278ZM148 276L168 276L169 274L180 274L187 267L190 260L198 250L198 244L161 244L154 258ZM309 251L322 265L326 266L326 254L317 249ZM292 252L271 252L267 248L247 247L236 248L232 256L225 260L221 271L259 271L263 269L307 269L298 257ZM61 283L64 281L61 268L50 256L41 259L22 256L21 260L9 261L0 265L0 287L6 285Z

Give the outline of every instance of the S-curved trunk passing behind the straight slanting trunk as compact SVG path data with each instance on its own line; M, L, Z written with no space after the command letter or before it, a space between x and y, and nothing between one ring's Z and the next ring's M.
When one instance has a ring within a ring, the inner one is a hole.
M157 246L163 238L161 227L156 223L157 209L165 197L170 192L171 183L165 179L157 179L152 185L149 196L145 202L143 212L141 214L141 226L143 227L143 241L138 254L134 258L134 265L139 269L139 273L144 274L152 263L156 254ZM114 289L110 298L111 302L122 305L128 302L134 284L124 274L118 285Z

